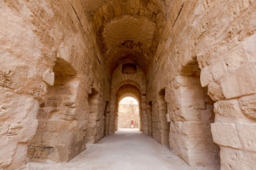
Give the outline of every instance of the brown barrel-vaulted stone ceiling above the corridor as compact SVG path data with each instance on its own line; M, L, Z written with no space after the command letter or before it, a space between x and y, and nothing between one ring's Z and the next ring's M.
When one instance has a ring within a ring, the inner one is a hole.
M148 72L166 21L164 0L80 0L107 69L132 62Z

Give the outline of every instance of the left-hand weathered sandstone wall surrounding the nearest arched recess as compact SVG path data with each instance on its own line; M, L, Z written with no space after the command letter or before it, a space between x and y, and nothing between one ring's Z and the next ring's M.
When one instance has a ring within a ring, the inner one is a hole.
M74 140L84 136L89 115L85 101L91 86L107 101L110 76L104 72L105 64L80 1L1 1L0 6L0 167L16 169L25 164L27 144L38 124L38 100L43 99L49 83L43 77L52 72L56 57L69 62L80 78ZM104 110L105 106L100 107Z

